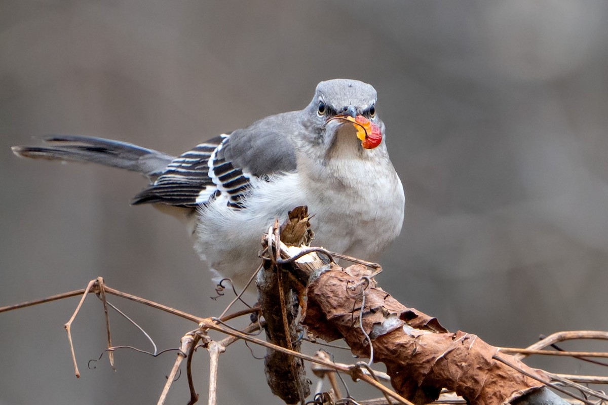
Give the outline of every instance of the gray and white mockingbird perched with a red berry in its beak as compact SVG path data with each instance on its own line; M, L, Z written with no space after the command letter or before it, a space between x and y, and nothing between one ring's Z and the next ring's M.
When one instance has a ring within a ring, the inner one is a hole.
M81 135L12 150L145 175L150 184L131 203L181 219L213 281L229 277L243 287L257 267L261 235L297 206L308 206L314 245L348 256L376 262L399 235L405 194L376 101L362 81L322 81L304 109L262 118L178 157Z

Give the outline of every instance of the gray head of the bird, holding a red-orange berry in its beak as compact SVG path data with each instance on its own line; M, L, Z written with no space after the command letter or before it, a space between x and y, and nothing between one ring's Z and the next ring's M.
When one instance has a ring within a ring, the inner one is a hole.
M359 151L376 148L384 134L384 124L376 114L376 98L376 90L362 81L322 81L305 110L310 133L328 150L337 145L350 145Z

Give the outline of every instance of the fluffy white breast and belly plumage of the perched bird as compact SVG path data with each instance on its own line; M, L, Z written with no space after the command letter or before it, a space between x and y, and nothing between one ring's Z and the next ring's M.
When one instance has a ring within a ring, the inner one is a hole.
M372 160L335 159L313 172L320 175L252 179L244 209L229 208L224 193L202 206L196 248L210 267L244 285L258 265L263 232L299 205L313 215L313 245L376 260L401 230L404 193L395 170Z

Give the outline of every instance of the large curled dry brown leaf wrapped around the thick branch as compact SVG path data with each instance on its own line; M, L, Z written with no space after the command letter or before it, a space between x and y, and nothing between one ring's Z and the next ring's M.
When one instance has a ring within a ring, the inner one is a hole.
M353 353L368 357L370 348L359 325L374 345L374 361L384 362L391 383L416 404L436 400L441 388L454 390L472 405L498 405L544 387L543 383L492 359L498 349L475 335L449 333L437 319L400 304L362 277L362 265L346 269L331 265L308 286L308 305L302 323L326 341L344 338ZM536 375L547 376L501 353L502 358Z

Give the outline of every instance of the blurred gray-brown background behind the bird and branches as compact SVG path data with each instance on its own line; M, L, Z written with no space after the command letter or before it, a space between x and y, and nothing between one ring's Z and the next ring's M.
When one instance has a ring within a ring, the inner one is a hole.
M300 109L317 82L347 77L378 90L406 188L404 230L382 260L385 289L497 345L605 330L606 21L604 1L2 0L0 305L103 276L114 288L218 315L229 299L209 299L213 285L181 223L129 206L142 178L19 160L10 146L84 134L180 154ZM95 298L73 327L75 379L63 324L77 302L0 315L0 404L156 403L174 353L122 351L117 372L106 356L87 368L105 345ZM195 327L112 302L161 349ZM148 348L126 321L112 322L115 344ZM201 403L207 362L199 351ZM262 363L242 342L230 347L220 403L280 403ZM590 372L579 362L553 370ZM187 398L182 376L169 403Z

